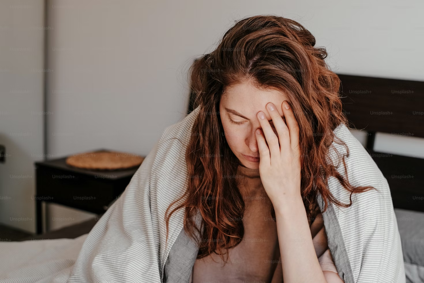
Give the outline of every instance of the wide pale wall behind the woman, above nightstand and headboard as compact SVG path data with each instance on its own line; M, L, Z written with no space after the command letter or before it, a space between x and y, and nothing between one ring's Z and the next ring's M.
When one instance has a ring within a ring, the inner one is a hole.
M421 0L50 0L49 8L53 155L148 154L185 115L192 60L246 16L301 22L336 72L424 80Z

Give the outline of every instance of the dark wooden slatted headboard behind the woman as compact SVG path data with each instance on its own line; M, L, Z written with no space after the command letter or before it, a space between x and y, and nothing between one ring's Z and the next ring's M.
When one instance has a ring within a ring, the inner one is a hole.
M376 132L424 137L424 81L338 76L349 126L367 131L365 148L388 181L393 207L424 211L424 159L374 151Z

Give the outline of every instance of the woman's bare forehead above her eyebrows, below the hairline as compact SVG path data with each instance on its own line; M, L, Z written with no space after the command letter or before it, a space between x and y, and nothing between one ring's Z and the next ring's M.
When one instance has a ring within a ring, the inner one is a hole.
M258 89L247 81L228 87L221 96L224 107L234 109L246 117L254 117L257 112L264 111L268 102L272 102L282 112L281 104L285 100L290 102L286 93L276 89Z

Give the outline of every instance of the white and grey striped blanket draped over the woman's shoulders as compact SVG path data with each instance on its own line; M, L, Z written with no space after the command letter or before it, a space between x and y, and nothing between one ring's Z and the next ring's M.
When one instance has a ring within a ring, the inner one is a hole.
M0 243L0 283L187 283L198 248L184 233L183 210L171 217L168 242L164 219L168 205L185 189L184 154L197 113L195 109L165 129L122 196L90 233L76 239ZM349 208L329 204L323 213L338 274L346 283L405 283L387 180L344 124L334 132L349 147L349 182L378 190L354 194ZM337 160L334 149L329 154ZM338 171L344 175L343 163ZM328 187L349 203L350 193L337 179L330 178ZM321 196L317 201L322 208Z

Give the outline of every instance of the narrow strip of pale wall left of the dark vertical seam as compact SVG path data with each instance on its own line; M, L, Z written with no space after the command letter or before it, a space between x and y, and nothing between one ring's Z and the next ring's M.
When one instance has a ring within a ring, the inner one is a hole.
M34 161L43 160L43 0L0 1L0 222L35 232Z

